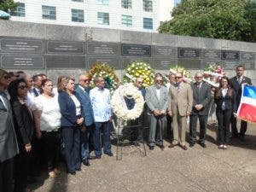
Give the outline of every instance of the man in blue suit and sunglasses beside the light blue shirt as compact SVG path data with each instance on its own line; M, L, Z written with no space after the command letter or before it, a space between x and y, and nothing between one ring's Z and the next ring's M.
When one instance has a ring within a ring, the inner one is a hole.
M87 92L90 85L90 79L88 74L79 75L79 85L76 88L79 102L81 103L84 114L84 127L85 130L81 133L81 157L84 166L90 166L90 151L89 151L89 136L93 136L94 133L94 119L93 111L90 102L90 96Z

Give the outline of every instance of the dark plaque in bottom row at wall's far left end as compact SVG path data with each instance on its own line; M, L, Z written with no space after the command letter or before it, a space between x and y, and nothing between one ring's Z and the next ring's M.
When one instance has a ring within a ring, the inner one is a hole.
M1 55L1 67L35 69L44 68L43 55Z

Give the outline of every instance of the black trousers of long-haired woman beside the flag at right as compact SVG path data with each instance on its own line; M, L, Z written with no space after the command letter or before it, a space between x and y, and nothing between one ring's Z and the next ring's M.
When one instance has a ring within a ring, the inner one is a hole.
M219 110L216 109L218 120L218 139L219 144L227 144L230 141L230 118L232 109Z

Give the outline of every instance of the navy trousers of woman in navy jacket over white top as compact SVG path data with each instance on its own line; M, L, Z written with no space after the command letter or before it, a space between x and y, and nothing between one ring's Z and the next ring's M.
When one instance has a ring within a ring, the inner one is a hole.
M80 129L79 127L61 127L64 154L67 164L67 172L75 172L81 167L79 155Z

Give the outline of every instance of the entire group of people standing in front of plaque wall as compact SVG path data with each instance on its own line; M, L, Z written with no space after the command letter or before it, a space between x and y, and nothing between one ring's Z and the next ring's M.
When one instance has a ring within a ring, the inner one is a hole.
M153 150L155 145L165 148L163 137L166 130L172 140L169 148L179 145L187 150L185 128L188 117L189 146L195 145L199 119L198 143L206 148L207 118L212 97L218 119L218 148L227 148L230 120L233 136L242 139L247 123L241 121L238 134L236 108L241 98L241 84L251 84L251 80L243 73L244 67L236 67L236 77L223 77L216 90L203 81L200 72L195 73L193 84L183 81L183 73L172 73L166 85L163 84L162 74L156 73L154 84L146 89L142 87L143 79L138 78L135 85L143 95L144 112L150 124L149 149ZM38 162L45 163L49 177L57 177L60 173L58 163L61 151L67 173L72 175L81 171L82 163L90 166L89 160L101 159L102 148L104 154L113 156L110 92L104 88L103 77L98 76L94 81L96 87L92 89L87 73L79 75L78 84L73 78L60 76L54 87L52 80L45 74L30 76L0 69L0 191L30 191L27 178L36 169ZM136 103L132 100L127 102L128 108L134 105ZM143 114L139 119L142 123L137 131L136 142L142 143ZM91 150L94 150L94 156L90 156Z

